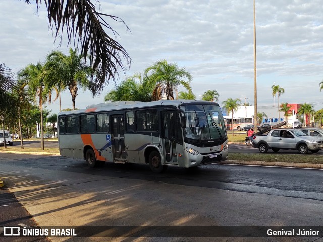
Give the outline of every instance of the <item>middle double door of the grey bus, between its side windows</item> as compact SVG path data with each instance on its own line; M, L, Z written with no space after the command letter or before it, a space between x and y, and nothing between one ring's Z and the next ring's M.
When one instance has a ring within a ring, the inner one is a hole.
M127 161L123 115L111 115L114 161Z

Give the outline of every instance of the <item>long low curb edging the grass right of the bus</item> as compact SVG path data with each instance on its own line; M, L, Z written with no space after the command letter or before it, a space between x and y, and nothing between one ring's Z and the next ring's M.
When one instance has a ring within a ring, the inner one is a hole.
M283 166L297 168L323 169L323 164L294 163L294 162L270 162L270 161L248 161L248 160L226 160L220 164L238 164L238 165L261 165L261 166Z

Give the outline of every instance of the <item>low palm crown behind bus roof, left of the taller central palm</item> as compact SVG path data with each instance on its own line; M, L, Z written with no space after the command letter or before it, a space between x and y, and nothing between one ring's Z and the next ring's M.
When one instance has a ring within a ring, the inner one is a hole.
M141 73L136 73L107 93L104 100L150 102L153 89L154 86L147 78L143 78Z

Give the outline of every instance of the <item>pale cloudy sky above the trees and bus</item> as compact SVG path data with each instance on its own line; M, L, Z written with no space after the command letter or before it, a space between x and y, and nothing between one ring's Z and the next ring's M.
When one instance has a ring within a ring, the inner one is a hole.
M45 5L37 13L34 4L24 2L0 1L0 63L14 72L29 63L43 62L53 49L68 50L64 37L61 46L54 42ZM254 103L252 0L100 0L96 5L100 12L120 17L130 29L106 19L132 59L126 75L166 59L192 74L197 99L215 89L220 104L228 98L244 102L244 97ZM256 0L258 106L274 105L271 86L279 85L285 89L280 102L306 102L316 110L323 108L323 92L319 91L323 81L322 12L322 0ZM120 80L124 78L120 73ZM95 98L80 90L76 107L104 102L104 95L113 88L109 83ZM62 108L71 107L66 91ZM58 102L47 109L58 112Z

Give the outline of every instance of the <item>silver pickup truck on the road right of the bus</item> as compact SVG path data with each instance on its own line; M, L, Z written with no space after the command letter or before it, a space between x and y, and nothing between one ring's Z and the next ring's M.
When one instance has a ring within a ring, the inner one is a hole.
M282 150L298 150L301 154L313 153L323 149L323 138L307 136L296 129L273 129L267 134L254 135L253 147L259 148L260 153L266 153L268 149L274 152Z

